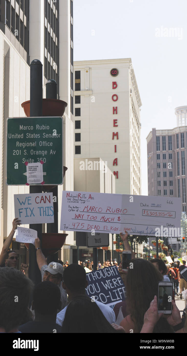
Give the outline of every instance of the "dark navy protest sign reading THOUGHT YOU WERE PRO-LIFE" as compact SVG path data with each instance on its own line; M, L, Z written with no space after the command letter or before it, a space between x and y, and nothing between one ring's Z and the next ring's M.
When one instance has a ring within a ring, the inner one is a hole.
M116 266L86 273L86 279L88 281L86 288L88 297L107 304L112 309L116 303L125 299L125 286Z

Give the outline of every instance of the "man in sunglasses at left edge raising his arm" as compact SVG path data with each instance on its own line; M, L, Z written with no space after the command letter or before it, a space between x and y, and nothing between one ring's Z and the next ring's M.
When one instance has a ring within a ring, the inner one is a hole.
M16 268L17 266L17 253L15 251L9 251L9 246L11 245L15 230L17 229L17 225L20 225L20 221L18 218L15 218L12 221L12 230L9 234L9 236L6 238L4 245L2 246L2 251L0 254L0 267L4 267L4 264L6 267L13 267Z

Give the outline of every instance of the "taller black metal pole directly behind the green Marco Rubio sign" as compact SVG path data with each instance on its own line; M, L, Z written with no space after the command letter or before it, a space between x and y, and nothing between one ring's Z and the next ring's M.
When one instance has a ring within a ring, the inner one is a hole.
M30 64L30 116L42 116L42 63L34 59ZM30 193L42 193L42 185L30 185ZM42 246L42 224L30 224L37 231ZM29 246L29 278L34 284L41 282L34 245Z

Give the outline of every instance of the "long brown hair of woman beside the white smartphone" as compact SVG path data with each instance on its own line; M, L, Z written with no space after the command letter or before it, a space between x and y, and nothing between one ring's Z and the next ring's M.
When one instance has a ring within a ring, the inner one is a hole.
M143 258L135 258L131 262L133 268L128 269L125 284L127 310L140 333L144 324L144 314L154 296L158 294L158 282L162 281L163 276L151 262ZM161 319L155 325L153 333L173 333L167 320Z

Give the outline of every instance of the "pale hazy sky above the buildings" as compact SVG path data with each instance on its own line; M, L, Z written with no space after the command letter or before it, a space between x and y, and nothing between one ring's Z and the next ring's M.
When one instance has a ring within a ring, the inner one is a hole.
M141 194L148 195L146 137L153 127L176 127L175 108L187 105L187 1L74 0L73 6L74 61L132 59L142 102Z

